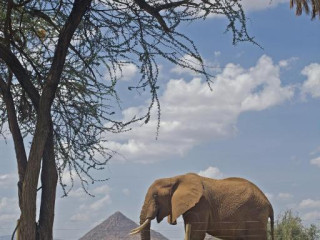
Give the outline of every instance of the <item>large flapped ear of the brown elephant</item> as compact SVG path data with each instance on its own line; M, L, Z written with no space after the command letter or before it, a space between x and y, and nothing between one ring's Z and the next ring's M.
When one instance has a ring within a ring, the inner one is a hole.
M177 218L194 207L202 194L203 185L198 175L179 176L171 198L171 214L168 216L168 222L176 224Z

